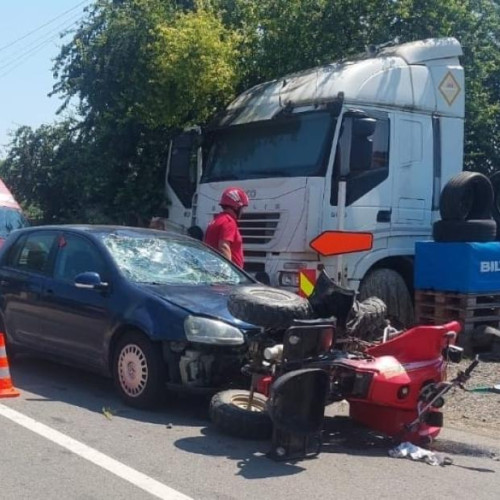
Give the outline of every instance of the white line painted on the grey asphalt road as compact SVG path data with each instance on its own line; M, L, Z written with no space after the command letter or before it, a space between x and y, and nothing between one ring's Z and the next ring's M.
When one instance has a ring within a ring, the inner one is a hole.
M114 458L108 457L104 453L87 446L86 444L77 441L69 436L66 436L62 432L56 431L51 427L38 422L31 417L28 417L18 411L15 411L8 406L0 404L0 415L8 418L12 422L21 425L22 427L39 434L40 436L52 441L53 443L66 448L67 450L73 452L75 455L92 462L108 472L111 472L115 476L118 476L134 486L137 486L141 490L144 490L151 495L162 500L192 500L190 497L183 495L182 493L170 488L166 484L160 483L142 472L136 471L131 467L128 467Z

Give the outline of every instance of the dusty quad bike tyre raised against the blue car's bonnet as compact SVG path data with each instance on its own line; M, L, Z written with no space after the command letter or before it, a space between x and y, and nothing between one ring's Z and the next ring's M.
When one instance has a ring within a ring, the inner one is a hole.
M295 319L312 317L306 299L267 286L240 288L229 296L227 307L235 318L264 328L286 329Z

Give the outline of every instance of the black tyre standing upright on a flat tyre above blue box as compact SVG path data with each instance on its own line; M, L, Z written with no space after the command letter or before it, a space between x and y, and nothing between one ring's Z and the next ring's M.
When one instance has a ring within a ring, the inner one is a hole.
M493 187L479 172L461 172L445 185L439 201L443 220L489 219Z

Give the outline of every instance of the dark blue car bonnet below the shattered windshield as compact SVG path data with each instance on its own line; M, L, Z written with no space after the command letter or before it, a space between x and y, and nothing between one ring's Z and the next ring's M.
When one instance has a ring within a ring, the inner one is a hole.
M231 315L227 299L235 285L138 285L153 295L168 300L191 314L211 316L238 328L250 329L255 325L245 323Z

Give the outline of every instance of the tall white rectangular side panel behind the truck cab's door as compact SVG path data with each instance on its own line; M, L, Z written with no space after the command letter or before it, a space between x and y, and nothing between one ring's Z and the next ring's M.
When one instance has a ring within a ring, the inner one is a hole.
M397 113L394 127L392 229L430 227L433 186L432 118Z

